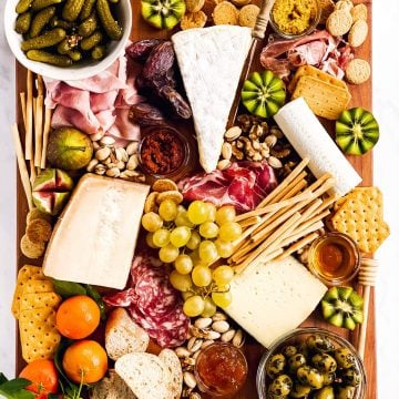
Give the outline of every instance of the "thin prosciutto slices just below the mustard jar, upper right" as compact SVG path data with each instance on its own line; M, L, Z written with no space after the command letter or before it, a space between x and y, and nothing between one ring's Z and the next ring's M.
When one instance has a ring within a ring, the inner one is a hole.
M354 53L349 45L321 30L300 39L282 40L272 37L262 50L260 63L282 79L287 79L290 71L305 64L315 65L342 79L351 58Z

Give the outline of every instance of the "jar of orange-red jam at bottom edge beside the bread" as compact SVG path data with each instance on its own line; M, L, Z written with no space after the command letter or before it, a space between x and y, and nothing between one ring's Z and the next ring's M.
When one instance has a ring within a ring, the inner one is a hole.
M241 349L232 344L215 342L201 350L194 374L201 391L229 398L244 386L248 365Z

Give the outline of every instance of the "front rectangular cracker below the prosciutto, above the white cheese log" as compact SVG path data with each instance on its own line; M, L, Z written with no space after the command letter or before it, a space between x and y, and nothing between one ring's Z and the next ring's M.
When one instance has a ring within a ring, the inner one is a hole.
M304 98L310 110L321 117L336 120L347 109L351 95L348 89L324 82L314 76L301 76L293 93L293 100Z

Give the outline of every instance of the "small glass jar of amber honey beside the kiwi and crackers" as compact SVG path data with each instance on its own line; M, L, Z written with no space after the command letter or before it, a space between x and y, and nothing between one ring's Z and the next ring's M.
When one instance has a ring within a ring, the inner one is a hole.
M327 233L311 244L308 263L310 272L323 283L341 285L359 272L359 247L346 234Z

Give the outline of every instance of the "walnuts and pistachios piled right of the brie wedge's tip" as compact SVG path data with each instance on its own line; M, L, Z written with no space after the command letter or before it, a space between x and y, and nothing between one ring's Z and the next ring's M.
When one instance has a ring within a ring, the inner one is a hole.
M277 126L254 115L237 117L237 125L228 129L222 145L222 158L217 168L225 170L234 161L260 162L268 164L279 175L287 175L296 166L295 151Z

